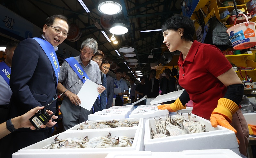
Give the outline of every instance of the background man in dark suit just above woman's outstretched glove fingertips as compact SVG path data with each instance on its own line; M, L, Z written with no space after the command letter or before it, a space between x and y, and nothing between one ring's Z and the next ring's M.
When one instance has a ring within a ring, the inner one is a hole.
M156 98L159 95L159 81L155 77L156 70L150 70L150 76L146 80L148 98Z

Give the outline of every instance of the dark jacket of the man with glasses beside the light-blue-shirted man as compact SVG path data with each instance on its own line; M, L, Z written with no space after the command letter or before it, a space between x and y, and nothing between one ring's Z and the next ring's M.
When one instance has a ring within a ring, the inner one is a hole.
M106 109L112 106L113 103L113 98L114 98L114 78L111 76L107 75L107 106Z

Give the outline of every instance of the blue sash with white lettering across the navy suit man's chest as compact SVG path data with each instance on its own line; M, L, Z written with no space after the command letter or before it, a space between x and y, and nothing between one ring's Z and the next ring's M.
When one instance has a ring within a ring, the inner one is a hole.
M57 85L58 79L59 79L59 73L60 73L60 65L59 65L59 61L58 61L57 55L54 51L52 44L49 43L48 41L41 39L41 38L34 37L33 39L36 40L40 44L40 46L44 50L45 54L51 61L52 67L54 69L54 72L55 72L55 75L57 78L57 80L56 80L56 85Z

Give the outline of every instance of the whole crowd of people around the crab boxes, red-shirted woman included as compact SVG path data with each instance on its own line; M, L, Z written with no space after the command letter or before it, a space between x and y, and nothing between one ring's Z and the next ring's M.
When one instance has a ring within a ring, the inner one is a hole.
M80 55L65 59L60 67L55 51L67 38L68 30L68 19L63 15L53 15L46 19L42 36L7 44L6 59L0 63L0 95L3 98L0 103L3 116L0 138L11 133L11 140L0 140L1 157L11 157L19 149L51 136L51 127L56 124L52 119L58 116L53 115L39 130L35 130L28 119L44 106L47 106L49 114L57 111L57 92L64 93L60 106L64 130L88 120L90 114L112 107L113 102L114 106L124 105L123 96L129 93L122 79L124 71L117 69L116 78L108 75L110 63L104 60L105 54L98 50L95 39L84 40ZM213 127L219 124L233 130L240 143L240 152L246 155L248 128L244 127L247 124L239 107L244 86L228 60L217 47L193 41L195 28L193 21L187 17L171 17L164 22L162 31L168 49L181 51L178 66L182 76L178 78L177 75L177 80L167 68L159 80L154 69L148 78L142 76L137 86L135 79L131 78L131 102L145 95L156 98L159 88L162 94L167 94L183 87L185 90L177 100L158 108L176 112L184 109L189 99L193 100L193 114L210 120ZM77 94L85 79L99 85L97 91L100 95L90 110L78 106L81 100ZM175 83L178 83L177 88Z

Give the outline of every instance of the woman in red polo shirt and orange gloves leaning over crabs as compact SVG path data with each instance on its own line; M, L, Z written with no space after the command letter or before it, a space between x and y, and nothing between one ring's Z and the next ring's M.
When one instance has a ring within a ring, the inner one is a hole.
M172 51L180 51L179 83L185 89L172 104L158 106L170 112L186 108L193 101L192 113L210 119L213 127L233 130L239 151L247 155L249 131L239 109L244 85L232 65L214 45L193 41L194 22L185 16L173 16L162 25L164 43ZM231 122L232 121L232 122Z

